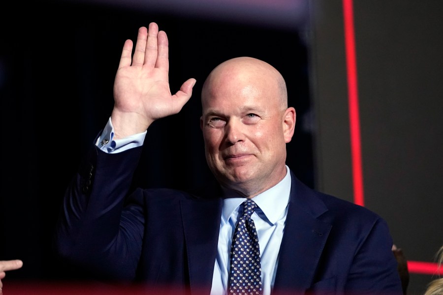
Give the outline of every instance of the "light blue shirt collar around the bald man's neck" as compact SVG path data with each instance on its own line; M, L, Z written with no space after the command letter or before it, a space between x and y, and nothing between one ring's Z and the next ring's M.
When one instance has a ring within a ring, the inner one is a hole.
M291 175L289 173L289 167L286 166L286 176L279 183L253 197L255 204L260 207L261 211L271 223L275 224L281 219L283 214L285 214L285 208L289 202L290 189ZM245 201L245 198L231 195L227 197L226 193L227 191L223 190L223 208L221 216L224 221L227 222L234 210ZM230 191L229 194L232 194L232 191Z

